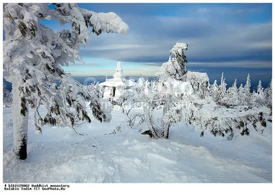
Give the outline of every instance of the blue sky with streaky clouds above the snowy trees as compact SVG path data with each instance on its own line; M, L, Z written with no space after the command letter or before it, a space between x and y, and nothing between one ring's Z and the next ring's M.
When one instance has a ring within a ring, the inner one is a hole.
M115 12L129 34L91 33L81 47L85 61L64 68L73 76L113 75L117 61L124 74L154 76L176 42L188 43L186 67L207 72L210 82L254 82L272 78L271 3L78 3L94 12ZM54 30L69 28L45 22Z

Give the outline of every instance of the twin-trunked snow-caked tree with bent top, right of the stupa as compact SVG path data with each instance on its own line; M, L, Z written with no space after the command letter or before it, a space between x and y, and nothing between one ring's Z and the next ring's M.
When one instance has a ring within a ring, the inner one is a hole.
M144 121L148 127L142 134L153 138L168 138L171 125L181 120L181 96L184 91L192 90L190 84L188 89L186 85L181 85L186 74L184 50L187 50L185 43L176 43L170 50L168 62L163 63L157 72L157 81L150 83L141 78L132 92L122 94L121 99L129 105L142 103ZM153 123L153 111L159 106L162 106L163 113L160 124L156 125Z

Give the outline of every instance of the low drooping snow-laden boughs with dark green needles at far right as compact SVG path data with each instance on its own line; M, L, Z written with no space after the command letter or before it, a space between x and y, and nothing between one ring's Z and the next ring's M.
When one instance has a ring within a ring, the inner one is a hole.
M185 112L186 124L195 125L203 136L204 132L210 132L214 136L226 136L231 140L234 134L250 134L250 125L257 131L266 127L263 113L268 113L267 107L236 108L221 107L211 101L203 100L200 106L191 103L190 109Z

